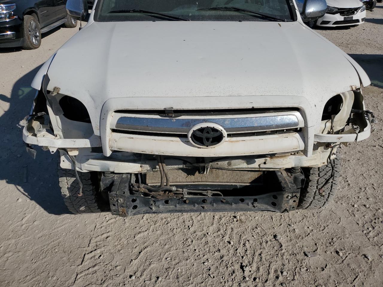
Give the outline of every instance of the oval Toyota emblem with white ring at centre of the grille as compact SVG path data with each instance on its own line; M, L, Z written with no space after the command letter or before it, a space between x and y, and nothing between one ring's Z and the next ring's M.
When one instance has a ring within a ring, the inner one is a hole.
M216 147L226 139L223 127L213 123L198 124L188 133L189 141L196 147Z

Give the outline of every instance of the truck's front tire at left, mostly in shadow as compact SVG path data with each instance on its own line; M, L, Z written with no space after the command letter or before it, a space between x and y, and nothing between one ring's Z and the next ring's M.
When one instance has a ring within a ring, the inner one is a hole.
M59 185L64 203L74 214L98 213L107 210L109 202L105 202L100 194L97 172L78 172L82 183L82 196L74 170L58 167Z

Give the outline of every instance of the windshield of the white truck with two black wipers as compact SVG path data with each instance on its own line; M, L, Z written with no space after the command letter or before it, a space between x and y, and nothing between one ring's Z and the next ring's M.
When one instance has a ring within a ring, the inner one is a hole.
M99 0L95 21L293 21L289 0Z

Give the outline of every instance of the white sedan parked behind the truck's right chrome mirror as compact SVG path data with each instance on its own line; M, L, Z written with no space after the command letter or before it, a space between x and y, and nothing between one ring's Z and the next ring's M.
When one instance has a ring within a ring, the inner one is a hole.
M298 0L298 8L303 7L304 0ZM301 11L301 10L300 10ZM366 7L359 0L327 0L326 14L318 20L305 20L305 23L314 26L338 27L357 26L366 19Z

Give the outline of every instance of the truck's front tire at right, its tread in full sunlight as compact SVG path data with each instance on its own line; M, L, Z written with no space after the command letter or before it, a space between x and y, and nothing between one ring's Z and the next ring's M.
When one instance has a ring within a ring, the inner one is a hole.
M337 191L340 155L319 168L302 168L306 182L301 189L298 209L319 209L329 204Z

